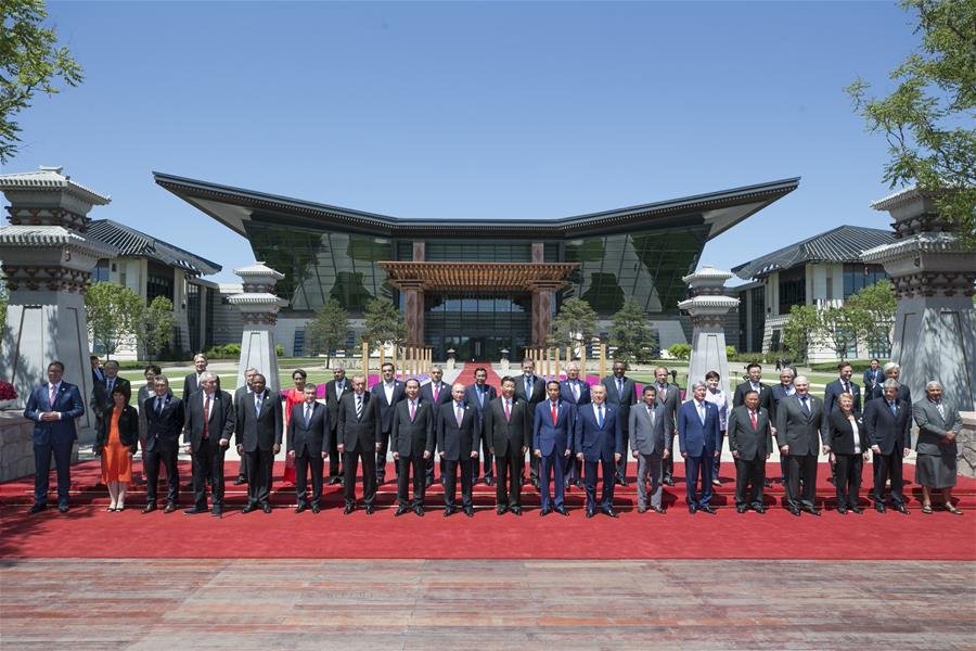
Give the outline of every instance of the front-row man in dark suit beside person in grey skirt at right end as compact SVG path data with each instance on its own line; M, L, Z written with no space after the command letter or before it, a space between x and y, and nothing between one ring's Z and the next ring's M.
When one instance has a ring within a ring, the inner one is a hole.
M885 512L885 484L891 481L891 508L908 514L902 492L901 460L908 457L912 442L912 410L898 399L898 381L885 380L884 395L868 400L864 430L874 452L874 508Z

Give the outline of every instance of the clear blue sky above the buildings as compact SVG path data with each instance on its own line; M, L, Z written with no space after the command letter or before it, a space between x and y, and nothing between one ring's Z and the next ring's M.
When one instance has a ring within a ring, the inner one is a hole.
M22 114L3 171L223 266L247 242L152 171L398 217L564 217L787 177L708 243L731 268L869 207L882 138L842 89L913 50L895 2L52 2L86 81Z

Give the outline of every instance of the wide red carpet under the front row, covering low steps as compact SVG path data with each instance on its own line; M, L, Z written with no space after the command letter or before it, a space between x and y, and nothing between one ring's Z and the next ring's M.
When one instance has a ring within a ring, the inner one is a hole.
M770 464L775 474L778 464ZM679 470L680 470L679 464ZM181 463L189 476L189 467ZM228 463L228 476L235 464ZM631 473L633 473L631 464ZM732 467L722 469L731 478ZM97 462L73 469L73 508L67 514L49 509L28 516L33 480L27 477L0 485L0 558L399 558L399 559L925 559L976 560L976 482L960 477L956 496L963 516L936 511L924 515L916 497L910 500L912 514L886 514L868 510L863 515L839 515L833 510L833 487L825 482L821 465L818 496L827 499L821 518L789 515L779 507L782 487L767 493L773 506L765 515L739 514L731 503L733 485L717 489L718 515L691 515L684 508L683 484L665 492L666 515L633 510L635 487L617 488L619 520L583 516L583 495L570 489L570 516L556 513L539 518L538 495L527 487L522 518L495 514L495 488L479 484L475 489L473 519L455 513L441 515L441 490L427 492L425 518L410 513L394 518L396 487L387 483L377 497L380 507L371 516L361 510L342 514L341 487L330 486L323 511L294 514L294 490L280 483L283 464L275 468L272 514L243 514L243 486L228 485L227 512L222 520L209 515L187 516L181 512L149 515L139 512L144 503L142 489L132 490L123 513L107 513L107 494L94 489ZM911 474L911 468L907 474ZM388 469L393 476L393 469ZM865 472L865 476L868 473ZM862 494L870 487L870 476ZM185 481L185 480L184 480ZM907 490L915 494L917 487ZM53 496L52 496L53 497ZM190 495L181 494L183 506ZM862 499L862 506L869 507ZM215 540L219 551L215 552Z

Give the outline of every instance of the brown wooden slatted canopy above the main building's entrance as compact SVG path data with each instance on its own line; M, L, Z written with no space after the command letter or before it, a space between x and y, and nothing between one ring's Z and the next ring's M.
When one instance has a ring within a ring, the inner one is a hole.
M558 289L578 263L377 263L398 289L524 291Z

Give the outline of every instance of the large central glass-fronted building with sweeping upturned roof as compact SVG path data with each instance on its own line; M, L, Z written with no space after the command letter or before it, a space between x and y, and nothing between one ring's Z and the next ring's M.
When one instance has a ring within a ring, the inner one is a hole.
M301 348L329 297L354 326L372 298L402 310L409 343L459 359L541 345L560 304L587 299L603 320L632 298L660 345L685 342L681 278L705 244L795 190L799 179L564 219L403 219L155 173L156 183L251 242L284 273L275 340ZM351 335L350 335L351 336ZM307 353L307 350L303 350Z

